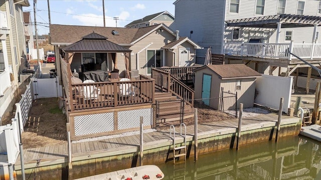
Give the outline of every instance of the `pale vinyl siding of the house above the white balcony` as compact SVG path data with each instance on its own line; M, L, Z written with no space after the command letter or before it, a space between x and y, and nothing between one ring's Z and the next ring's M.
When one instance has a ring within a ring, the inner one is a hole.
M304 15L318 15L317 8L319 0L304 0ZM285 13L286 14L296 14L298 0L286 0ZM247 18L254 16L262 16L255 14L256 0L240 0L239 13L229 12L230 0L226 1L226 20L237 19L237 18ZM265 0L264 14L263 15L275 15L277 13L277 0ZM282 27L282 25L281 25ZM235 27L238 28L238 27ZM239 39L232 40L232 29L233 27L227 27L225 30L225 40L227 41L244 41L248 42L250 38L264 38L266 42L275 43L276 42L276 29L264 29L264 28L241 28L241 34ZM285 40L285 31L292 30L292 40L294 43L302 43L312 41L313 27L296 27L296 28L281 28L279 34L279 42L290 41ZM320 27L318 30L321 32ZM304 32L304 33L302 33ZM321 35L321 34L320 34Z

